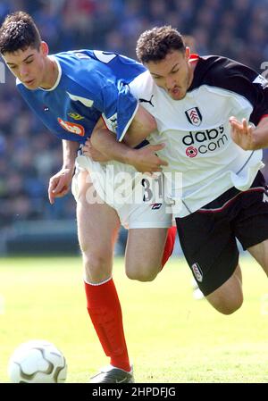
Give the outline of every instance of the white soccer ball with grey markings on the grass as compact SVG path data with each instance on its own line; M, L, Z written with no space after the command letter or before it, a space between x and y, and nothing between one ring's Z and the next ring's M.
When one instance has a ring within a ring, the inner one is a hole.
M14 350L8 374L13 383L63 383L67 364L54 344L35 339Z

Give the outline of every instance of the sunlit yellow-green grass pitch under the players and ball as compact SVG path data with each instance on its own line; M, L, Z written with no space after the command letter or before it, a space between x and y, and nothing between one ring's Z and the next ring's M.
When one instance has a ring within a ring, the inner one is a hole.
M268 287L262 269L241 261L245 301L230 316L192 297L191 276L173 259L157 279L127 279L114 266L130 357L137 382L267 382ZM0 382L13 349L31 338L61 348L68 382L87 382L108 363L88 318L81 260L0 260Z

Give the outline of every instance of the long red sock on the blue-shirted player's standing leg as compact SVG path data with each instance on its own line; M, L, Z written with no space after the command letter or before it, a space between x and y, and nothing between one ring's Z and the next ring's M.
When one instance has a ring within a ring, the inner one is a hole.
M113 366L130 372L130 360L126 346L121 305L113 279L93 286L85 282L88 314L96 334Z

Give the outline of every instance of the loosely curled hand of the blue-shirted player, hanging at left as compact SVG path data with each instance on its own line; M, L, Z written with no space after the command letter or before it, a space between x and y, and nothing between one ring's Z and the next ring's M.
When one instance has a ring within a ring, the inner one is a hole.
M62 169L49 180L48 199L51 205L55 197L63 197L68 194L71 186L73 169Z

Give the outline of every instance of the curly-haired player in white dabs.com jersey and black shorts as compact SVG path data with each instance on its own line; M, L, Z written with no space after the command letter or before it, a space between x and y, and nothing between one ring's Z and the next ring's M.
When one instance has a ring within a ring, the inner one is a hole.
M147 71L130 88L155 117L158 133L148 139L165 143L158 152L169 163L164 169L182 173L182 188L172 182L170 196L184 255L210 304L233 313L243 302L236 238L268 273L262 151L243 150L231 138L246 131L268 138L267 82L228 58L190 54L168 26L145 31L137 54ZM101 149L105 132L95 134Z

